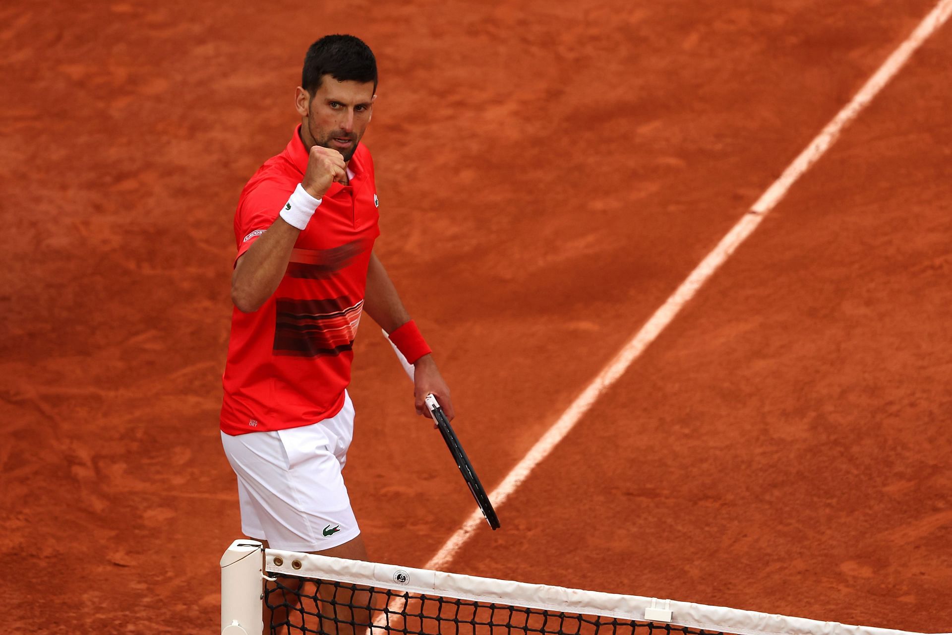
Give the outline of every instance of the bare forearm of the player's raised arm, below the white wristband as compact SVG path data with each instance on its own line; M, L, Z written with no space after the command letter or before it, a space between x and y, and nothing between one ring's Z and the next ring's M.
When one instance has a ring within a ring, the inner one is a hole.
M256 311L271 297L288 270L300 233L279 217L238 259L231 274L231 301L238 310Z

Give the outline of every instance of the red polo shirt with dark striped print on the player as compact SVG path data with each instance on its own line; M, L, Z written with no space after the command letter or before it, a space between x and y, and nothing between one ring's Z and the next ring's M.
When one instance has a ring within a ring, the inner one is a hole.
M373 162L364 145L347 167L353 178L327 190L274 294L252 313L232 309L221 414L228 434L308 426L344 405L367 265L380 235ZM274 223L306 168L298 126L288 147L242 190L235 260Z

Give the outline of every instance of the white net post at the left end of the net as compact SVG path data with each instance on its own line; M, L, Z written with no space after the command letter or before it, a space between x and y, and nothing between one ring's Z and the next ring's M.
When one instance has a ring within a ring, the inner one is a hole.
M236 540L222 556L221 635L262 635L264 551L254 540Z

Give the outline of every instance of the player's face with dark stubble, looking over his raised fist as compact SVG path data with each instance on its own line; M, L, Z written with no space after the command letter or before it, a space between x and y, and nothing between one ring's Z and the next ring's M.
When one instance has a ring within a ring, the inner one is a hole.
M321 78L313 94L298 87L294 101L305 146L336 149L349 161L370 123L376 98L373 82L341 82L331 75Z

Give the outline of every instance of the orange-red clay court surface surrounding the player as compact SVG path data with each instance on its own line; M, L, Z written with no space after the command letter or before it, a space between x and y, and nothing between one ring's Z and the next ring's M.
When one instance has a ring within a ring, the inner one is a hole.
M0 630L216 632L232 217L317 37L375 51L377 252L490 490L934 0L0 9ZM444 568L952 630L952 24ZM379 329L371 557L473 504Z

